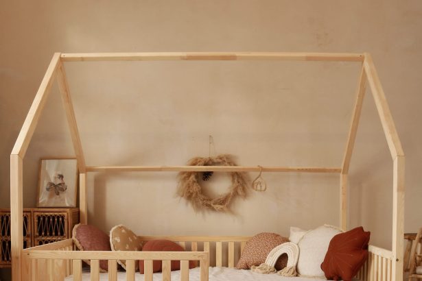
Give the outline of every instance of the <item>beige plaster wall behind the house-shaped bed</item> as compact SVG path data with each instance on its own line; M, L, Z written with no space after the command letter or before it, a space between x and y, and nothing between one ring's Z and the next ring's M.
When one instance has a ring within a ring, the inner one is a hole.
M407 154L406 232L421 226L421 1L2 1L0 206L9 154L55 51L368 51ZM355 63L93 62L66 66L89 165L185 164L214 153L244 165L339 166ZM368 94L370 94L368 92ZM56 86L25 158L24 206L36 204L38 159L72 153ZM351 166L350 227L390 247L392 162L367 95ZM254 173L250 178L254 178ZM265 173L232 214L195 213L176 173L93 173L89 221L138 234L288 235L338 225L338 175ZM207 184L224 192L228 175Z

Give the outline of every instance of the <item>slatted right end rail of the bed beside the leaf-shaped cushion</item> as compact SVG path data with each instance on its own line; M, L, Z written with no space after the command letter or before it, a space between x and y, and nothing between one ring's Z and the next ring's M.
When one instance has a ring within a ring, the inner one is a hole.
M392 281L392 252L373 245L369 245L368 252L368 260L356 278L362 281Z

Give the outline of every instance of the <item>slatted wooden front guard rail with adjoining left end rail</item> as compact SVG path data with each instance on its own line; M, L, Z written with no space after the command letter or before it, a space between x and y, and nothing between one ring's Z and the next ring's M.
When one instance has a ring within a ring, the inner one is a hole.
M126 260L126 280L134 281L135 264L144 260L145 280L152 281L152 261L163 261L163 281L170 280L171 261L180 260L182 281L189 280L189 260L200 262L200 280L208 281L209 258L207 252L111 252L73 251L71 239L64 243L67 247L56 247L56 243L24 249L22 251L25 278L23 280L65 280L73 275L73 280L82 281L82 260L91 262L91 280L99 280L99 260L108 260L108 280L117 281L117 260ZM64 241L62 241L64 242ZM70 248L70 249L69 249Z

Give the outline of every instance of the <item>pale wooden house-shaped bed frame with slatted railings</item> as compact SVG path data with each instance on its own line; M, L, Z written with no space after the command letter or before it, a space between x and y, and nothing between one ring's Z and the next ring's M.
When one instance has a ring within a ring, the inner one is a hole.
M384 134L393 162L392 182L392 250L369 247L370 256L357 274L360 280L403 280L403 220L404 220L404 162L405 156L381 82L368 53L55 53L43 82L10 155L10 206L12 234L12 280L63 280L73 273L73 280L81 280L82 260L91 260L91 280L98 280L99 259L108 260L109 280L117 280L117 259L128 262L126 280L134 280L136 260L145 260L145 280L152 280L152 260L163 260L163 280L169 280L170 260L181 260L182 280L188 280L189 260L200 262L201 281L208 280L208 266L227 265L233 267L239 250L249 237L172 236L166 239L177 241L191 252L79 252L75 251L71 239L48 245L23 249L23 158L27 151L36 124L43 110L54 80L58 80L67 121L71 130L75 157L78 159L80 175L80 221L87 222L86 173L91 171L259 171L259 167L191 167L191 166L117 166L86 167L82 145L76 124L71 95L65 74L65 62L110 61L110 60L307 60L344 61L362 64L356 91L356 101L344 158L340 167L262 167L262 171L294 173L339 173L340 174L340 226L347 230L347 175L362 110L366 84L371 88L375 105L381 119ZM163 238L163 237L158 237ZM144 240L157 237L143 237ZM211 249L215 244L215 250ZM211 246L210 246L211 245ZM227 248L227 251L225 250ZM235 250L237 249L237 251ZM224 251L223 251L224 250ZM215 254L215 255L214 255Z

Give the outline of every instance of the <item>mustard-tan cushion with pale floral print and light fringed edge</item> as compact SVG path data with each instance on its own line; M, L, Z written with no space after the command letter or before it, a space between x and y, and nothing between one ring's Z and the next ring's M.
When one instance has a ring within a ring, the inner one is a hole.
M116 225L110 230L110 247L112 251L141 251L142 242L137 234L124 225ZM119 265L126 270L126 260L117 260ZM138 263L135 263L138 269Z

